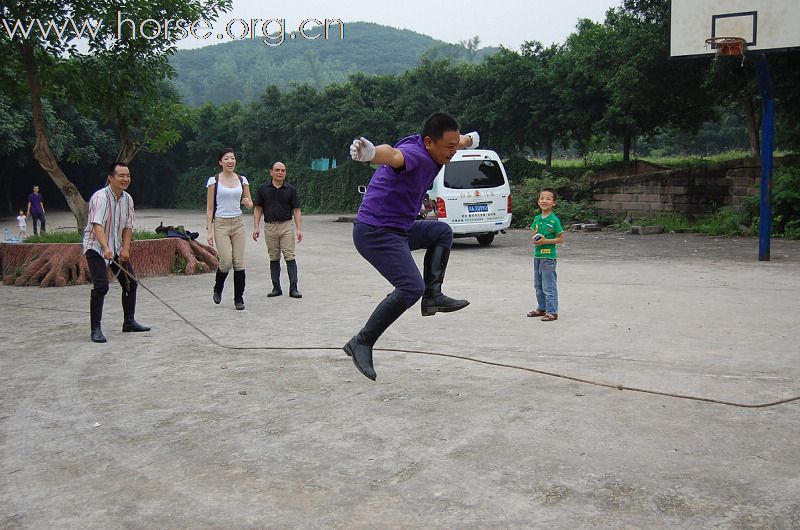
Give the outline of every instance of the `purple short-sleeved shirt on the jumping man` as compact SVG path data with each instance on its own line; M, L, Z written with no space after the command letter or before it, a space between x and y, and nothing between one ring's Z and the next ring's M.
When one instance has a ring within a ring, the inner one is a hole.
M400 169L383 165L375 171L356 221L410 230L425 192L442 166L433 161L419 134L403 138L394 147L403 153L405 165Z

